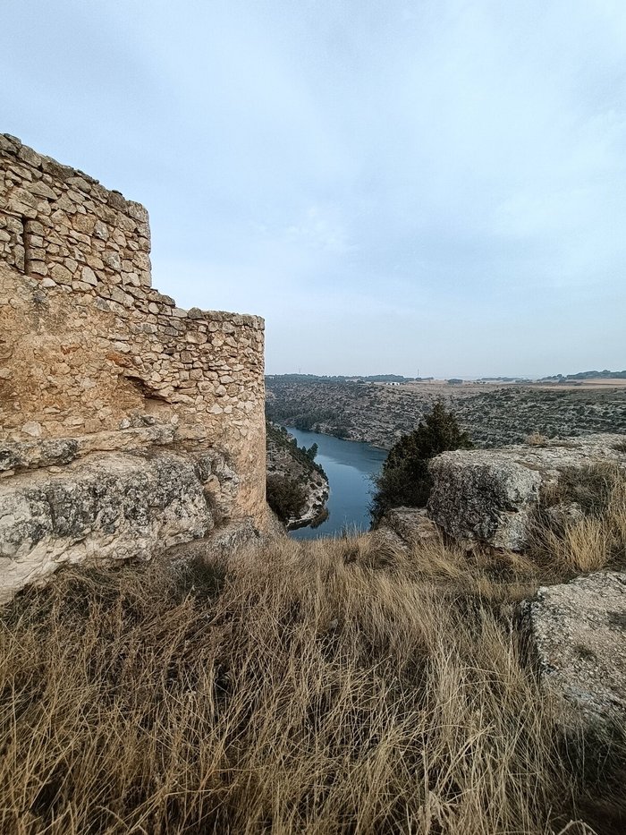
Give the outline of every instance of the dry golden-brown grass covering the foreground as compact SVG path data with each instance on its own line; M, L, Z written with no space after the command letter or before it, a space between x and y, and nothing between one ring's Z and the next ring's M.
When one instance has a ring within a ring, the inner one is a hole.
M512 618L583 539L587 565L623 558L607 485L611 547L572 522L558 562L546 541L284 540L22 593L0 631L0 831L624 831L623 751L563 735Z

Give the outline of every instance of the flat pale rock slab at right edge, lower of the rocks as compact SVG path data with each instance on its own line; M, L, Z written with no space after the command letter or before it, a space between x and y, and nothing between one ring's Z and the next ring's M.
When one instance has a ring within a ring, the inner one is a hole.
M521 608L542 682L590 721L626 720L626 574L541 588Z

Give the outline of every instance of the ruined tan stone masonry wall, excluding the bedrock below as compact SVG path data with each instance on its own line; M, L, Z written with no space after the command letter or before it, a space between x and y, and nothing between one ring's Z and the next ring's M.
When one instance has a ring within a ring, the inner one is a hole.
M263 320L177 308L149 250L139 203L0 135L0 470L58 465L53 439L150 447L157 427L161 445L219 450L228 515L262 524Z

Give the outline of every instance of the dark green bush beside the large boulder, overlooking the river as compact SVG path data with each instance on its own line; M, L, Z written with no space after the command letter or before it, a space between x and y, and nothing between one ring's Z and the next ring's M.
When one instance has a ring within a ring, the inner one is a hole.
M369 507L374 522L390 507L426 507L432 487L428 461L445 450L472 446L454 413L438 400L424 422L391 448L382 473L375 478L376 492Z

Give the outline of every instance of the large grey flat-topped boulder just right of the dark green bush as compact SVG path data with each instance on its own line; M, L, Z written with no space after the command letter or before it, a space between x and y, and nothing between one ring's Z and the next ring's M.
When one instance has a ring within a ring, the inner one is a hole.
M589 435L546 441L540 447L444 452L429 466L434 484L428 515L468 545L478 541L523 550L546 489L563 473L602 461L626 466L624 436Z

